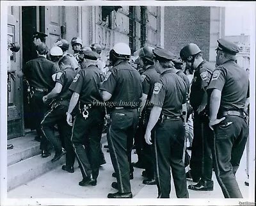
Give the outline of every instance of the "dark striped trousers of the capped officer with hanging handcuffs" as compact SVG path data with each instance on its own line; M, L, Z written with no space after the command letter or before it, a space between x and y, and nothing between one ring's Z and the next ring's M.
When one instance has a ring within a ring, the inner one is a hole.
M81 113L78 113L74 119L71 141L83 178L92 174L96 180L99 176L100 139L103 125L104 112L100 107L88 109L86 119ZM88 142L86 147L84 147L85 142Z

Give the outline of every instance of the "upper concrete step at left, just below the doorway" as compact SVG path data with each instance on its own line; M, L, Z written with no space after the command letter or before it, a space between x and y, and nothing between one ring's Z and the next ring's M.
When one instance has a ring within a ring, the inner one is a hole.
M25 136L8 140L13 149L7 150L7 166L40 154L40 142L35 141L35 136L36 132L28 132Z

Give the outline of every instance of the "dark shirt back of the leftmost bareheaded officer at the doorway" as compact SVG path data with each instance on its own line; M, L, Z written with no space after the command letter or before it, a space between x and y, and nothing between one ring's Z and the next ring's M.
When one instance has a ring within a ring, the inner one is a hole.
M28 61L22 68L22 72L26 75L30 86L47 90L54 88L55 83L52 80L52 74L57 71L58 67L43 56Z

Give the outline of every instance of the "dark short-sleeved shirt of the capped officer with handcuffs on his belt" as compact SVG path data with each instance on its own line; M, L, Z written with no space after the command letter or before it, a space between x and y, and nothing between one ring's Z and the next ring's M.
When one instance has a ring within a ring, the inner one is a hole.
M95 65L80 70L69 89L79 93L79 100L84 104L99 105L102 98L99 93L99 84L104 80L104 75Z

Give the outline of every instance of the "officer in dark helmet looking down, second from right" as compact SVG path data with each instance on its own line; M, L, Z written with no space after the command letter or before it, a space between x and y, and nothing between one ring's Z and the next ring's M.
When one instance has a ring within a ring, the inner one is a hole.
M191 175L192 180L198 184L191 184L188 188L196 191L212 191L212 131L209 128L206 88L214 66L202 58L201 50L196 44L183 47L180 58L186 62L186 67L195 70L189 98L194 110L194 139L191 150L191 170L188 171L187 177Z

